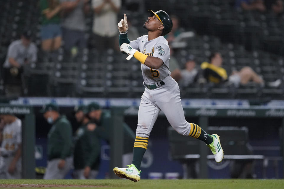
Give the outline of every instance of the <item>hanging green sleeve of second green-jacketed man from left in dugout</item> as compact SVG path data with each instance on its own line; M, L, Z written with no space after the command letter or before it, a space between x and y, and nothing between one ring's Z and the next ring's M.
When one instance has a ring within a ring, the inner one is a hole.
M95 132L89 131L87 134L88 141L90 142L90 146L92 147L91 153L86 160L86 166L92 167L92 165L95 163L95 161L98 159L98 156L101 151L101 145L100 141L97 138Z

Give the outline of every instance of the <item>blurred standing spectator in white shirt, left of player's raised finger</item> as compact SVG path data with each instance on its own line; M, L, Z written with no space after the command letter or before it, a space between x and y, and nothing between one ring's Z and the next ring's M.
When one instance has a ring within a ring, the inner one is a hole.
M94 11L93 33L98 50L114 48L118 50L117 13L121 0L92 0Z

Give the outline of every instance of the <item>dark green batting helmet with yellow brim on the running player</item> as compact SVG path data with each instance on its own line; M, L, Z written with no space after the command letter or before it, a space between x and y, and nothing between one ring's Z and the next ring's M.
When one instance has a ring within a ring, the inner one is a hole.
M148 10L148 12L151 14L151 16L155 15L160 22L162 22L162 24L164 25L164 31L162 33L163 36L167 35L168 33L171 32L172 30L172 19L170 18L170 16L164 12L164 11L157 11L154 12L152 10Z

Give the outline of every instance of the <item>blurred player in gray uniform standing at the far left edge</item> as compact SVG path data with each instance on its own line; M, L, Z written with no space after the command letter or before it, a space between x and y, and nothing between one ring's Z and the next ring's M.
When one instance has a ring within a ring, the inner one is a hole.
M2 114L0 119L0 179L20 179L22 121L10 114Z

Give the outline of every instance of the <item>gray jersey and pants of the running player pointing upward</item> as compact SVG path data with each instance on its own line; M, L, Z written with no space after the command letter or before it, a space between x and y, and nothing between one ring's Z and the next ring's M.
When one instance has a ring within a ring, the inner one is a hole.
M156 84L159 81L163 81L164 85L156 84L158 87L156 89L145 88L138 111L136 136L149 137L161 110L166 115L171 126L178 133L187 136L191 125L184 117L178 83L170 76L170 48L167 40L163 36L159 36L148 41L148 35L143 35L129 44L143 54L158 57L164 62L157 70L141 63L145 83Z

